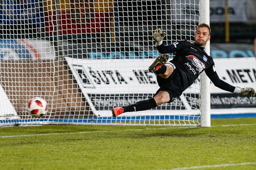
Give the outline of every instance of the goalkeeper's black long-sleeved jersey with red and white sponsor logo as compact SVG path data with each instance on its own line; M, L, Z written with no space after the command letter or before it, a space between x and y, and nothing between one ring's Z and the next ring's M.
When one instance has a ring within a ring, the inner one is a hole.
M183 90L193 84L199 74L205 71L215 86L229 92L234 92L234 86L220 80L215 71L215 64L212 57L204 51L204 47L197 45L194 41L185 39L167 46L161 44L157 46L157 50L162 54L176 52L171 62L184 75L182 77L185 86Z

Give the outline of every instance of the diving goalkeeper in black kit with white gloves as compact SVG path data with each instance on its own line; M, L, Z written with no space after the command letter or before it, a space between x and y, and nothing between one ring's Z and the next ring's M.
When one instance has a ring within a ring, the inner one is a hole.
M255 90L253 88L234 87L220 80L212 57L204 51L207 41L211 38L210 32L209 25L201 23L196 29L195 42L185 39L164 46L162 40L166 33L162 33L161 29L155 30L152 37L156 41L158 52L163 55L158 56L148 70L157 74L156 80L160 88L153 98L128 106L115 107L111 110L113 116L116 117L124 112L149 110L163 103L171 103L193 84L203 71L212 83L220 89L239 95L254 96ZM174 52L176 55L173 60L166 63L169 59L166 53Z

